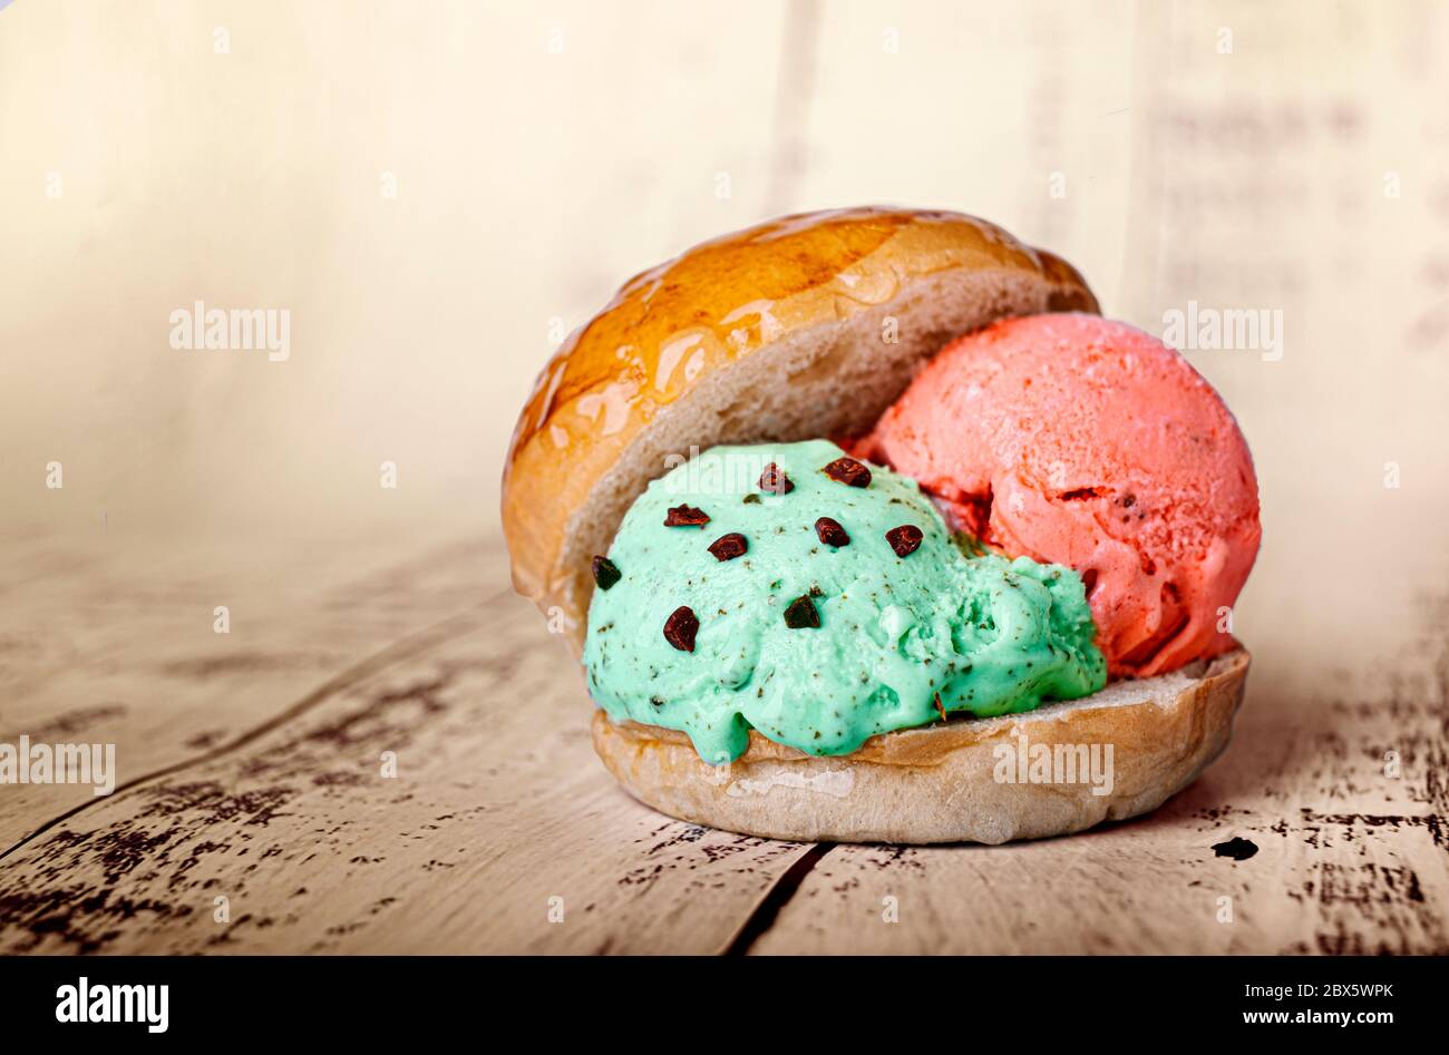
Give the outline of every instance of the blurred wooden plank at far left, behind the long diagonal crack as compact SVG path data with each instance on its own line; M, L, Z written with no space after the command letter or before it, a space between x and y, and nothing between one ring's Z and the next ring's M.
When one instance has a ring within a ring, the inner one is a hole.
M0 564L0 742L114 743L117 783L197 758L477 603L501 546L456 539L13 541ZM216 606L229 633L216 633ZM0 851L93 798L0 794Z

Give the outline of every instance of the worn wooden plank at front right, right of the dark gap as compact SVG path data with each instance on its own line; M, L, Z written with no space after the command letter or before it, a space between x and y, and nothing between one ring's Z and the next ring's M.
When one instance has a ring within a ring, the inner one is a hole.
M1449 952L1449 619L1424 614L1394 677L1314 694L1256 670L1227 755L1148 817L998 848L838 846L751 951ZM1252 855L1214 851L1232 839Z

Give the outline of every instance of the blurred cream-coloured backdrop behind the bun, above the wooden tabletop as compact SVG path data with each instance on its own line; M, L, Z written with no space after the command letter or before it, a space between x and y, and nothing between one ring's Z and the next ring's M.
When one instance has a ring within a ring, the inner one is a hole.
M249 541L496 536L516 412L622 281L895 203L1155 333L1281 310L1278 361L1190 352L1262 487L1237 632L1284 678L1398 655L1449 626L1446 54L1430 1L16 0L0 545L265 583ZM288 358L172 348L196 301L287 309Z

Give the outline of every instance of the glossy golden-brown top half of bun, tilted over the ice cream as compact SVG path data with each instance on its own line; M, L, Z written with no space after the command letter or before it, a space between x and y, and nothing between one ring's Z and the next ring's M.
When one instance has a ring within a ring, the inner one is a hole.
M864 433L952 338L1040 312L1097 299L1061 258L948 212L787 216L645 271L564 342L519 416L503 472L514 588L577 654L590 556L691 448Z

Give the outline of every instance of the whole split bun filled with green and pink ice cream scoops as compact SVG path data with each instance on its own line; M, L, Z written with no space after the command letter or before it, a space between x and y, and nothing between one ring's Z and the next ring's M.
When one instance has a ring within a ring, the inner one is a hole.
M564 343L504 530L630 794L998 843L1152 810L1223 751L1252 459L1181 355L1097 310L990 223L853 209L697 246Z

